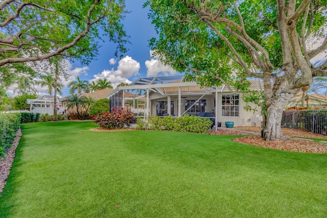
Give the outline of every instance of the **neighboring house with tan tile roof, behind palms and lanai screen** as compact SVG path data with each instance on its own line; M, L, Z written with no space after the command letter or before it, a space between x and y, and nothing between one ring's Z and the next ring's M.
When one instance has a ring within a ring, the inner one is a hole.
M108 93L110 93L112 90L113 89L110 89L110 88L104 88L104 89L97 90L97 91L90 92L90 93L78 93L78 95L80 97L85 96L85 98L92 98L94 101L98 101L100 99L105 99L106 95L108 95ZM126 101L126 103L129 103L129 101L133 100L133 98L137 98L138 96L139 95L137 95L137 94L130 93L130 92L126 91L125 92L125 101ZM62 104L65 105L65 106L67 106L67 102L65 101L66 98L67 97L60 100L62 102ZM144 102L144 100L143 100L143 102ZM108 105L108 107L109 107L109 105ZM130 104L125 104L125 110L133 112L133 106L130 105ZM79 111L80 112L85 111L85 108L81 108L81 109L79 109ZM68 113L69 114L70 113L77 113L76 106L74 106L73 108L69 108ZM135 113L137 113L137 112L135 112Z

